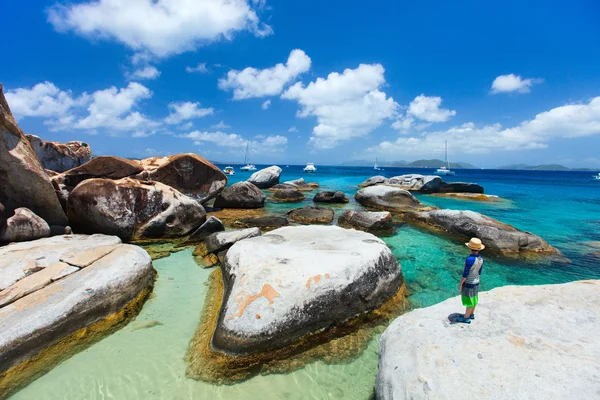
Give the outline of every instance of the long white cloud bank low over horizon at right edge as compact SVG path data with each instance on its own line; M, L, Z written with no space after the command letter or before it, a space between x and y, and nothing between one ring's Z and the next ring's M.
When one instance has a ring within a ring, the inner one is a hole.
M489 153L543 149L555 139L596 135L600 135L600 97L584 104L553 108L512 128L504 128L499 123L478 126L467 122L447 130L383 141L369 150L391 155L441 154L444 141L448 140L455 154Z

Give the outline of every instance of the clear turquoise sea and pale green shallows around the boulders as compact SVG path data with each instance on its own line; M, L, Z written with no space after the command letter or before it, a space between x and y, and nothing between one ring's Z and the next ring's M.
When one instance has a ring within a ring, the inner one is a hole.
M224 166L220 166L223 168ZM239 166L235 166L239 170ZM257 166L261 168L262 166ZM317 166L305 174L302 166L283 166L281 180L304 177L321 190L340 190L351 202L334 207L339 215L360 209L353 195L357 185L373 175L432 174L434 170ZM481 290L505 285L563 283L600 279L600 182L597 172L456 170L450 182L475 182L503 201L483 203L418 195L429 205L469 209L533 232L561 250L570 263L505 261L486 258ZM236 172L230 182L247 179ZM311 204L307 194L304 205ZM272 214L303 204L268 203ZM456 286L464 244L398 225L383 238L398 257L412 307L426 307L458 295ZM485 256L485 253L484 253ZM377 374L378 337L354 361L314 362L288 374L258 376L231 386L214 386L185 377L184 355L206 295L211 270L198 267L191 250L154 262L158 271L154 294L134 321L87 350L64 361L11 399L361 399L371 398ZM485 294L480 295L485 301ZM459 301L457 311L462 307ZM440 316L444 318L445 316ZM147 327L153 325L152 327Z

